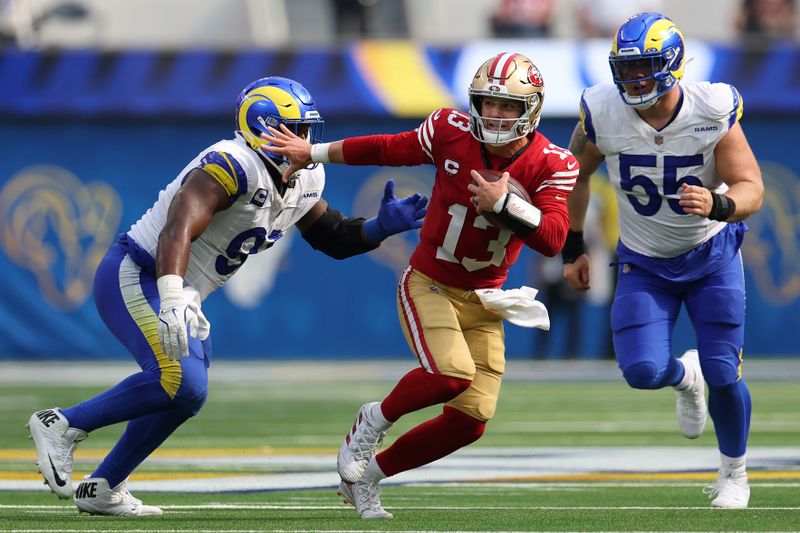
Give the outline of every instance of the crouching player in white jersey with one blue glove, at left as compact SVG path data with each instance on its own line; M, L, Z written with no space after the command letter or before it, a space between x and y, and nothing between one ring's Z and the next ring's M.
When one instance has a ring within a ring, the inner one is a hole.
M397 199L391 180L378 215L369 220L345 217L328 206L322 166L282 181L288 162L262 151L260 134L284 125L316 142L323 125L311 95L296 81L270 77L250 84L237 100L236 125L235 138L194 158L98 267L94 293L100 316L142 371L68 409L30 417L40 470L61 498L73 496L78 443L97 428L129 421L97 470L75 489L81 511L162 514L133 497L126 480L205 403L211 342L201 302L250 254L267 250L291 226L315 249L342 259L422 225L427 198L415 193Z

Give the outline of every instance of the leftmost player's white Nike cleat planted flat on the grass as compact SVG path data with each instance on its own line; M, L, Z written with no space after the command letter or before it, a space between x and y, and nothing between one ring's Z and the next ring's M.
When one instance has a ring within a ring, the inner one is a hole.
M82 513L110 516L161 516L159 507L144 505L128 490L126 479L113 489L101 477L86 477L75 489L75 505Z

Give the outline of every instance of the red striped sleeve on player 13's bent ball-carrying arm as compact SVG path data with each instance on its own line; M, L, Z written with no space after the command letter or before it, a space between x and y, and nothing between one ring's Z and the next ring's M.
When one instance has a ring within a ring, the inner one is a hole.
M542 212L539 227L525 237L523 242L548 257L558 254L564 247L569 230L567 197L578 178L578 161L568 151L560 149L548 155L542 169L542 179L531 195L531 203ZM565 154L565 158L560 156Z

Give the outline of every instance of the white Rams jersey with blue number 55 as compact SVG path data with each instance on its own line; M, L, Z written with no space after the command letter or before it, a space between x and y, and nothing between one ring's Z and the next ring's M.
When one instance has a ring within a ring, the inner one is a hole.
M620 240L649 257L676 257L707 241L725 223L683 212L681 185L723 193L714 149L742 115L738 91L724 83L682 83L672 120L656 130L620 98L615 85L581 97L581 124L605 156L617 193Z

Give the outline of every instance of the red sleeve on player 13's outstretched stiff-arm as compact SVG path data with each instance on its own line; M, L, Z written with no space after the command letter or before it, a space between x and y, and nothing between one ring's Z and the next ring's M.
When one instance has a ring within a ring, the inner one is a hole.
M432 139L435 122L440 114L441 110L434 111L412 131L345 139L342 144L345 163L388 167L432 164Z

